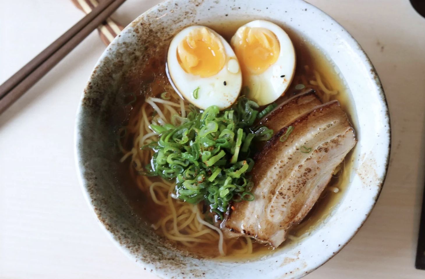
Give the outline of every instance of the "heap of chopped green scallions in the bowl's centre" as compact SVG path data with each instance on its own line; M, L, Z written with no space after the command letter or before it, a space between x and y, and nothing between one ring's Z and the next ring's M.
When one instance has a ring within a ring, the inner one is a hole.
M204 201L218 216L231 201L252 201L250 147L254 140L268 140L273 134L266 127L251 130L257 109L257 103L241 97L224 111L217 106L204 111L192 107L178 126L150 125L159 140L142 147L155 153L140 173L176 179L178 198L191 204Z

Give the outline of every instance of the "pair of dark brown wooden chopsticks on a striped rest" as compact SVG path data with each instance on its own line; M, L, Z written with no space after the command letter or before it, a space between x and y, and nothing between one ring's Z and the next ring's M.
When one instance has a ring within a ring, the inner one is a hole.
M0 86L0 114L42 78L125 0L105 0Z

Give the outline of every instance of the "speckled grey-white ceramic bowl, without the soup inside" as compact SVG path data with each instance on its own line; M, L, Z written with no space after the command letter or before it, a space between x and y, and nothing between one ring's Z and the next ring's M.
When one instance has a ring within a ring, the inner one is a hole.
M294 245L269 257L217 261L184 257L152 233L123 193L128 183L114 134L123 77L144 44L187 25L265 19L292 29L337 66L353 100L358 143L350 183L340 203ZM76 124L76 161L88 203L130 258L162 278L300 278L336 254L370 213L385 179L390 148L388 108L374 67L357 42L331 17L302 0L168 0L125 28L100 57L82 95Z

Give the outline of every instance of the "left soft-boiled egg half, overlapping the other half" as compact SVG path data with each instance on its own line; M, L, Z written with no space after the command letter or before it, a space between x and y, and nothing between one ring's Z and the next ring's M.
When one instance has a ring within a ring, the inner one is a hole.
M183 98L201 109L225 109L238 98L242 73L229 43L205 26L190 26L174 36L167 74Z

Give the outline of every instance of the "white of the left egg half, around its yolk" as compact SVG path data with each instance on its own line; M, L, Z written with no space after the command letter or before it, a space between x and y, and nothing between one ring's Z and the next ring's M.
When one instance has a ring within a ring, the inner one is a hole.
M206 109L209 106L216 105L220 109L226 109L236 101L242 86L239 62L229 43L218 33L205 27L218 37L226 55L226 62L220 72L207 78L186 73L177 60L178 44L195 28L203 27L200 25L190 26L174 36L168 48L167 75L176 92L198 108ZM193 92L198 87L198 98L194 98Z

